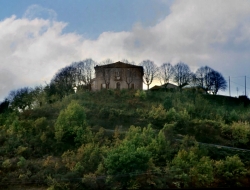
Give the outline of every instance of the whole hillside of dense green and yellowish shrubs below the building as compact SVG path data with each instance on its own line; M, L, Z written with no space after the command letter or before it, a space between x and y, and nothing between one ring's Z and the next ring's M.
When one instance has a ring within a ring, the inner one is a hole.
M2 188L250 185L250 151L237 149L250 149L250 109L238 99L195 89L82 90L53 101L37 89L34 97L1 111Z

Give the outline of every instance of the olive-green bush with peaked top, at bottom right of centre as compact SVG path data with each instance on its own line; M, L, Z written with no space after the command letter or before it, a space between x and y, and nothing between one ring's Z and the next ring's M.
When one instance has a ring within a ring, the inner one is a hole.
M181 149L166 170L177 187L209 187L214 181L212 160L202 155L197 143L189 139L184 139Z

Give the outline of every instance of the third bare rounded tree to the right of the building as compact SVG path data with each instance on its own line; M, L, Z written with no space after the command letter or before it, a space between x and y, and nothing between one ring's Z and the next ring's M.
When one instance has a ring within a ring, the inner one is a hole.
M176 82L180 89L189 84L191 79L191 71L189 66L185 63L179 62L174 66L174 82Z

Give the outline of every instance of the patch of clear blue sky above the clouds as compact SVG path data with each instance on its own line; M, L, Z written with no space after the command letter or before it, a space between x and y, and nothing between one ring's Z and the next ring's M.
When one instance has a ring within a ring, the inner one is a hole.
M25 0L1 1L0 18L11 15L22 18L28 8L33 9L31 18L50 18L68 23L63 32L76 32L95 39L103 31L129 31L135 23L153 26L169 13L167 2L153 0ZM43 10L42 10L43 9ZM51 11L52 13L48 13Z

